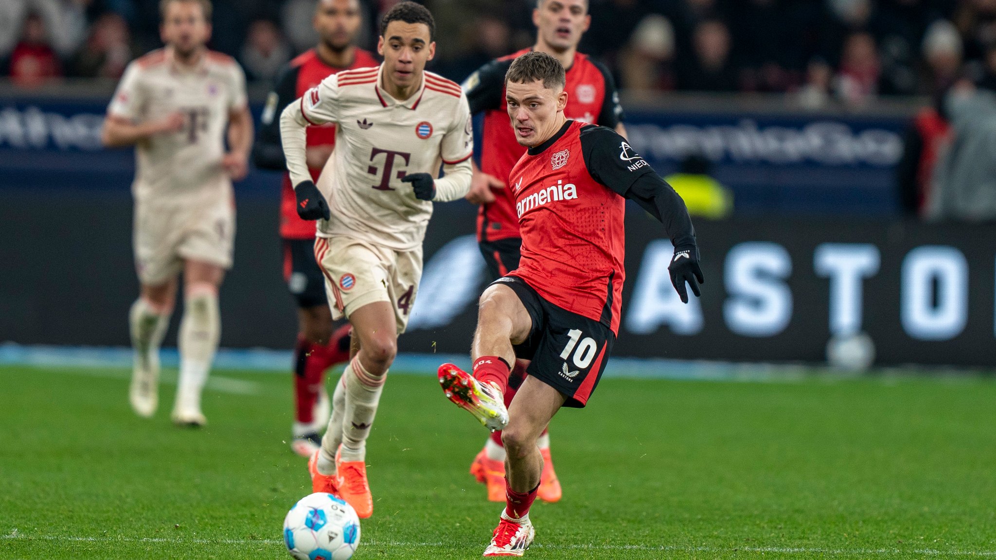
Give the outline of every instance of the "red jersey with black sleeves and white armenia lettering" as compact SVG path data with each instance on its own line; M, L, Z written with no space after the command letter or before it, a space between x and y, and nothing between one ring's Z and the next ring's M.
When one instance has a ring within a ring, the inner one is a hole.
M681 197L612 129L568 121L512 168L522 232L510 272L550 303L619 334L625 200L663 222L676 250L696 250Z

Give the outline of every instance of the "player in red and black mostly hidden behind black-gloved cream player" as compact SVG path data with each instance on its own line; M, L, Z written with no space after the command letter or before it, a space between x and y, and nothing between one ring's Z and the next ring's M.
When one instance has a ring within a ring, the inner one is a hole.
M359 0L322 0L315 10L318 46L291 61L267 98L253 159L257 167L284 173L280 201L280 236L284 245L284 278L298 301L299 332L294 349L295 420L291 448L309 457L321 444L320 431L329 420L325 371L350 358L350 324L333 329L325 296L325 278L315 262L315 222L298 216L294 188L287 175L276 116L331 74L377 66L373 55L354 46L360 30ZM308 167L318 180L336 141L335 126L308 129Z

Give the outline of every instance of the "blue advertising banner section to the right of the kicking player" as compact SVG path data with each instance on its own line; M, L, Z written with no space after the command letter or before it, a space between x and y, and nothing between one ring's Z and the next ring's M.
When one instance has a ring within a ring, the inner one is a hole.
M628 112L629 144L666 175L691 155L712 163L738 212L896 211L900 118Z

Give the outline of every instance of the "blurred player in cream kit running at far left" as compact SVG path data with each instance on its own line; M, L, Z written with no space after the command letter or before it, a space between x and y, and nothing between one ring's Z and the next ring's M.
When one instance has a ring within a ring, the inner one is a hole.
M172 420L199 426L206 421L200 394L221 334L218 286L232 265L232 180L246 175L252 118L242 69L205 48L211 3L162 0L159 7L166 46L128 65L108 108L103 140L136 146L134 256L141 295L130 314L131 407L142 417L155 413L159 345L182 272Z

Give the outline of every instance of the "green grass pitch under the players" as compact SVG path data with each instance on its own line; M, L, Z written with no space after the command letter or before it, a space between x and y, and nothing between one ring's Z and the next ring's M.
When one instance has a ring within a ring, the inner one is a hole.
M0 558L289 558L310 492L290 374L221 372L202 430L126 403L124 371L0 369ZM527 558L996 556L996 382L605 380L551 427L564 499ZM392 374L356 558L476 558L500 505L485 431L435 379Z

